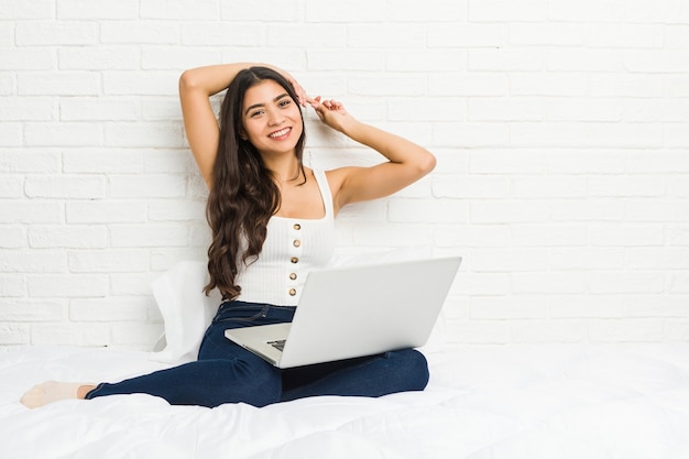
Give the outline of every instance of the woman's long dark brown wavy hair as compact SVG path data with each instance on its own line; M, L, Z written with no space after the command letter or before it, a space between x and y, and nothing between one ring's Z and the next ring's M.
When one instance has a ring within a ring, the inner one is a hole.
M241 286L234 282L240 264L247 265L258 259L267 222L281 205L273 173L265 167L253 144L242 139L244 95L249 88L266 79L277 83L297 102L294 88L280 73L266 67L251 67L232 79L220 108L220 142L206 206L212 233L208 249L210 282L204 292L208 295L218 288L222 299L234 299L241 293ZM305 140L302 117L302 136L295 146L299 170L294 179L306 178L303 164Z

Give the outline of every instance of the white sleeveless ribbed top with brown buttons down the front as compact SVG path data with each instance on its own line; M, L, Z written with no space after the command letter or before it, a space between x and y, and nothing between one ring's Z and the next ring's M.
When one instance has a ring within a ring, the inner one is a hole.
M314 171L326 214L320 219L273 216L259 259L240 263L237 299L296 306L309 271L328 263L335 252L335 211L325 172Z

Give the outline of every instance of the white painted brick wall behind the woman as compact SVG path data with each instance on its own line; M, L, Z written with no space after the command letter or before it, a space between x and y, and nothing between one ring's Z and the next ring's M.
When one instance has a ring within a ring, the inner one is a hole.
M462 254L452 343L689 340L686 0L3 0L0 345L156 340L151 280L208 243L177 78L226 61L437 154L338 234Z

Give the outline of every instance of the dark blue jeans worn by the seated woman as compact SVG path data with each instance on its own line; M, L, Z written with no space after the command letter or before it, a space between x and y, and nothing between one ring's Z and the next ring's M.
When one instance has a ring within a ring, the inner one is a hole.
M223 303L206 330L197 361L101 383L86 398L145 393L173 405L265 406L316 395L378 397L426 387L428 364L414 349L280 370L225 337L228 328L292 321L294 313L294 307Z

